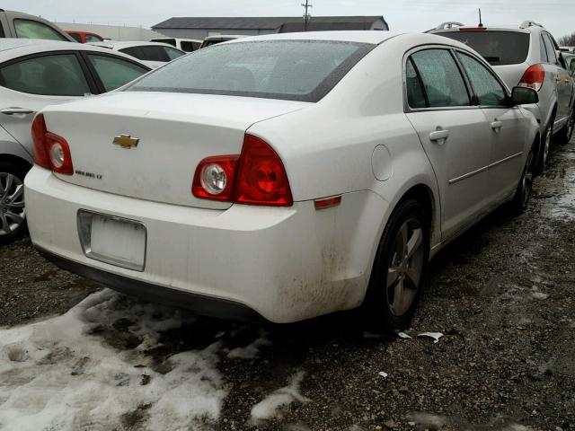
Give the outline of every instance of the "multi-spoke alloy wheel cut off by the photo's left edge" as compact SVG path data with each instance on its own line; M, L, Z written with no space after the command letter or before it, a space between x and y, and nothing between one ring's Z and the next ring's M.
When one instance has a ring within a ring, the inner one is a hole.
M25 218L22 180L12 173L0 172L0 236L17 231Z

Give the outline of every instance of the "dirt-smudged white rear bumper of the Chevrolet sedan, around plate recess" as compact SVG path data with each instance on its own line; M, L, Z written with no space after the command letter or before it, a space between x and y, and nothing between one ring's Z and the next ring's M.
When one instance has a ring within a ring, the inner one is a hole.
M39 167L27 175L25 194L32 242L62 267L130 295L165 303L181 294L178 305L198 312L242 317L235 316L239 305L278 323L361 303L387 209L370 191L346 194L340 207L321 211L310 201L289 208L179 207L75 186ZM85 256L80 210L144 224L144 271ZM234 310L194 305L206 298Z

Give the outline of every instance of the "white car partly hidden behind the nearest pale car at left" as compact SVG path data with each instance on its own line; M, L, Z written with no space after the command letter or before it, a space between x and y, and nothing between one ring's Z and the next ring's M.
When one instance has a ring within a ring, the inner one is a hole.
M167 43L157 42L118 42L116 40L104 40L103 42L92 43L92 45L123 52L124 54L128 54L128 56L137 58L152 68L164 66L166 63L186 54Z

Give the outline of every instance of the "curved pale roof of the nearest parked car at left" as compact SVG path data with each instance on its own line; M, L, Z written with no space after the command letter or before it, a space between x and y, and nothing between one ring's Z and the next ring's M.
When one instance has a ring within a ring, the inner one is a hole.
M91 52L102 52L110 54L110 49L100 48L87 43L64 42L59 40L43 39L0 39L0 62L16 57L38 54L46 51L67 51L81 50ZM146 66L137 58L128 56L121 52L114 52L119 57L125 57L139 65ZM146 66L149 69L149 66Z

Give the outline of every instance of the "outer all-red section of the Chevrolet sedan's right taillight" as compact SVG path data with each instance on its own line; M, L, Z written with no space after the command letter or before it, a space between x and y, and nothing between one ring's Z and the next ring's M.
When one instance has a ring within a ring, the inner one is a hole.
M246 135L243 139L234 202L271 207L294 203L279 155L259 137Z

